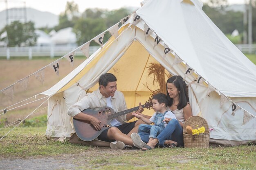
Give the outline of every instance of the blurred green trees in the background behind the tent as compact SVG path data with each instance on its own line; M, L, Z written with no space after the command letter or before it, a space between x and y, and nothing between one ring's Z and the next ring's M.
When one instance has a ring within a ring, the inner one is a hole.
M227 0L209 0L204 4L202 10L208 17L220 28L220 30L233 41L234 44L241 43L243 40L243 12L227 11ZM89 41L93 37L99 35L112 25L116 24L123 17L132 13L130 9L121 8L108 11L106 9L86 9L83 13L79 13L78 5L72 1L67 2L65 11L59 15L59 24L53 28L43 27L40 30L49 33L53 29L59 31L62 28L72 27L76 34L77 44L81 45ZM253 9L253 41L256 41L256 10ZM230 34L237 29L240 33L239 37L231 37ZM8 46L33 46L36 44L36 34L33 22L20 23L19 21L12 22L5 26L1 31L7 31ZM106 34L103 41L110 37ZM4 41L0 39L0 41ZM93 45L93 44L92 44Z

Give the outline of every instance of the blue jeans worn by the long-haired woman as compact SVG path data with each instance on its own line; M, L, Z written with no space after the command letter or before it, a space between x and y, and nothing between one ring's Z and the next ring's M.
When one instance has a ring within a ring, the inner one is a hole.
M143 142L148 143L150 133L140 132L138 134ZM164 147L165 140L173 140L178 143L178 146L184 146L183 129L176 119L172 119L156 138L159 140L160 147Z

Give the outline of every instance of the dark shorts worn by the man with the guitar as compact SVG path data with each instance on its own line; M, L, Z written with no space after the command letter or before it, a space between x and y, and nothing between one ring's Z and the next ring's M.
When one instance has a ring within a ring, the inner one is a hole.
M134 121L134 122L129 122L129 123L126 123L126 124L121 124L119 126L115 126L117 129L119 129L122 133L124 134L128 134L134 127L135 127L135 123L137 122ZM108 129L104 130L98 137L99 140L103 140L103 141L106 141L106 142L114 142L115 140L111 140L111 139L108 139Z

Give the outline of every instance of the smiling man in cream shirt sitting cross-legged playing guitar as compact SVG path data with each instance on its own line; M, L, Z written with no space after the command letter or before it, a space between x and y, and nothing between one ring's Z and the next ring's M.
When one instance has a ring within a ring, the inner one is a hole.
M72 105L67 113L76 119L87 120L95 129L101 130L101 121L81 111L89 108L99 110L101 107L105 106L111 107L115 112L127 109L124 94L117 91L117 78L111 73L101 75L99 78L99 89L86 94L79 102ZM138 111L143 111L143 108L141 107ZM132 113L128 113L112 119L111 124L113 127L104 130L99 135L98 139L111 142L110 147L115 149L123 149L125 144L132 146L130 135L134 132L137 133L139 124L143 123L141 120L127 123L127 121L132 118L134 118Z

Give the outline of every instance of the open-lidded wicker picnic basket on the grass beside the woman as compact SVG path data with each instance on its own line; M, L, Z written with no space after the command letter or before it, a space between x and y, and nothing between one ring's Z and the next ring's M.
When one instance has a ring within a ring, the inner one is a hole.
M187 134L186 126L191 126L193 129L205 127L205 132L199 135ZM209 148L210 133L207 121L200 116L189 117L183 126L183 139L185 148Z

